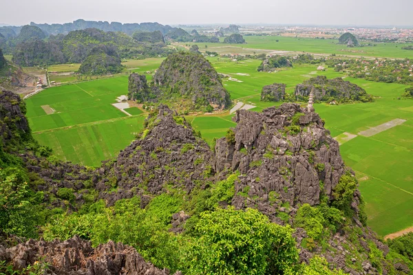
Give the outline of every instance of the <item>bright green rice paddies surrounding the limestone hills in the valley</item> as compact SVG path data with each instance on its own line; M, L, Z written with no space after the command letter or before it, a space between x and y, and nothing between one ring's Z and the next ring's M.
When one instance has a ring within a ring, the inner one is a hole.
M255 45L260 45L260 37L246 38L255 39L248 43L255 41ZM279 38L277 47L282 45L282 39L285 38ZM379 46L375 48L380 49ZM208 47L208 50L213 49ZM320 51L326 52L324 48ZM385 45L378 51L383 55L399 54ZM232 62L227 58L210 58L210 61L219 73L231 77L223 81L231 98L253 104L253 111L273 106L271 102L260 102L264 85L286 83L287 91L292 92L296 84L317 75L346 77L332 70L319 72L317 65L295 65L277 73L266 73L256 71L260 65L257 60ZM129 61L129 71L153 72L161 62L161 58ZM150 78L150 74L147 77ZM405 85L348 77L346 80L366 89L368 94L376 97L375 101L337 106L315 104L315 110L326 120L332 137L338 136L341 140L341 155L355 171L367 203L368 224L385 236L413 226L413 100L398 99ZM115 157L142 129L146 116L142 110L131 107L126 110L131 116L127 116L112 106L118 96L125 94L127 75L46 89L26 100L34 137L41 144L52 147L61 159L99 166L100 161ZM43 108L46 105L54 113L47 115ZM235 126L231 117L229 113L189 115L187 120L211 143L213 138L223 137L229 127ZM370 137L359 134L395 119L406 121ZM346 138L348 135L352 138Z

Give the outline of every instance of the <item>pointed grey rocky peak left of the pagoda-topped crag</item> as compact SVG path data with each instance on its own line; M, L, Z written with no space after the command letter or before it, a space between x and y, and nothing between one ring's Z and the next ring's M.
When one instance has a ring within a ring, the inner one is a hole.
M166 105L147 118L147 129L97 170L96 188L109 205L123 197L158 195L168 184L190 191L213 175L213 153L184 118ZM117 192L108 192L112 187ZM138 188L136 188L138 187Z

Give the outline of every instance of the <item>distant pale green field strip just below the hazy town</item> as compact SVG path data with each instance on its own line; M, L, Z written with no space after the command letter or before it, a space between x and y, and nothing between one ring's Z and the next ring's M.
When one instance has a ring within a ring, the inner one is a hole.
M308 39L287 36L244 36L246 44L196 43L201 51L209 50L220 54L257 54L275 51L307 52L313 54L337 54L347 56L376 56L389 58L413 58L413 51L401 50L399 43L374 43L374 46L348 48L337 44L335 39ZM278 40L278 42L277 42ZM194 43L180 43L192 45ZM208 48L205 49L204 45Z

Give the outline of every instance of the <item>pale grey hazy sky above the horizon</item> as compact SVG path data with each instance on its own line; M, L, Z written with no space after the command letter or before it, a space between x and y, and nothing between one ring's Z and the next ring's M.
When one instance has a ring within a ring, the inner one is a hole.
M0 23L413 25L412 0L0 0Z

